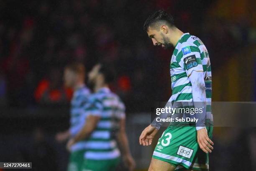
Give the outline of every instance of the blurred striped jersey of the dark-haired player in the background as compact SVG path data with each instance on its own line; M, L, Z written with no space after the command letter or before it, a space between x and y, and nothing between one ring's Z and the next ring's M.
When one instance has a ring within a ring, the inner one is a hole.
M90 114L100 116L97 127L86 141L84 157L108 160L120 156L115 135L119 121L125 117L125 106L120 98L104 87L90 97Z

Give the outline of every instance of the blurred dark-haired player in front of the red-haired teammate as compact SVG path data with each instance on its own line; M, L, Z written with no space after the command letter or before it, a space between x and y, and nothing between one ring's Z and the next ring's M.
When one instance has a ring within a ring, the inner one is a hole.
M86 139L86 152L82 171L115 171L120 161L119 142L123 159L129 171L135 167L125 133L125 106L120 98L110 91L113 81L109 66L97 64L89 73L89 83L94 94L90 97L87 121L82 130L68 146Z

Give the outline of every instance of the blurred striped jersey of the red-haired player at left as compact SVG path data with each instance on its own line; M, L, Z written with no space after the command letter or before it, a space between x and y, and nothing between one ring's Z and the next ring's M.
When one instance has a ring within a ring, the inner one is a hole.
M83 127L86 119L86 105L88 105L90 96L90 90L83 86L77 89L71 100L70 109L70 133L73 137L76 135ZM81 150L82 142L78 142L72 146L72 151Z

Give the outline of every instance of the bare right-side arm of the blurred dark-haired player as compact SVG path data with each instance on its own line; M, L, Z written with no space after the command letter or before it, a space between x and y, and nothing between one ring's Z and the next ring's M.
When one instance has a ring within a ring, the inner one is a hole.
M125 118L120 120L120 130L117 135L118 143L120 144L120 150L123 155L125 165L128 166L129 171L133 171L135 168L135 161L131 156L131 151L128 144L127 135L125 132Z

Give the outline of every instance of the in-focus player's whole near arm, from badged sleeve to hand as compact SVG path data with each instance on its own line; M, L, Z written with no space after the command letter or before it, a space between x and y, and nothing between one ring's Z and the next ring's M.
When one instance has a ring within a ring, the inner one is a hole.
M193 43L184 43L181 48L182 57L177 59L179 66L186 71L187 77L189 77L189 81L191 82L192 98L195 108L203 108L202 113L195 112L195 118L198 119L196 123L197 142L202 151L205 153L211 152L213 148L210 144L213 145L213 142L208 138L205 128L206 93L200 49Z

